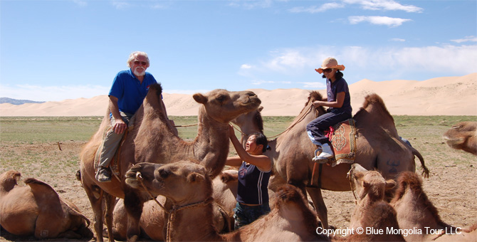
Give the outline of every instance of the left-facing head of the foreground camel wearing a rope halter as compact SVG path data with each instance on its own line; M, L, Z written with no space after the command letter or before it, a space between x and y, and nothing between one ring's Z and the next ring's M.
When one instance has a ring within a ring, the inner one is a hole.
M212 181L205 167L190 161L138 163L126 172L126 184L141 191L147 189L153 196L166 196L177 205L202 201L212 194Z

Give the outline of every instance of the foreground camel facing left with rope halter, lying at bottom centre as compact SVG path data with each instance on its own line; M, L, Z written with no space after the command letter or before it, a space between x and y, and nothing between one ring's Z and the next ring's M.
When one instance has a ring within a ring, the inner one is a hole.
M136 164L126 174L126 183L154 195L171 199L167 241L327 241L316 233L318 221L293 186L278 189L275 206L266 216L237 231L221 235L214 228L210 204L212 180L206 169L192 162Z

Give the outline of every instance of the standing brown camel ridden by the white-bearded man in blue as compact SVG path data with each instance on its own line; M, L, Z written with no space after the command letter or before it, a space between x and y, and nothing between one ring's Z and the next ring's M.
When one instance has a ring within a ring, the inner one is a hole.
M206 167L211 177L223 169L229 153L229 122L239 115L251 112L260 105L260 100L250 91L229 92L213 90L205 95L193 95L199 107L198 135L192 142L178 137L170 125L161 105L161 85L151 85L142 106L135 114L135 122L125 135L119 151L119 172L111 182L100 183L95 179L95 153L101 142L103 130L109 127L106 114L98 132L85 144L80 154L81 181L88 194L95 214L95 233L98 241L103 241L103 214L108 227L108 237L112 236L112 210L115 197L125 199L129 216L127 238L135 241L140 234L140 215L142 204L149 199L146 194L138 194L125 186L124 173L137 162L167 163L181 159L196 160ZM103 211L105 199L105 211Z

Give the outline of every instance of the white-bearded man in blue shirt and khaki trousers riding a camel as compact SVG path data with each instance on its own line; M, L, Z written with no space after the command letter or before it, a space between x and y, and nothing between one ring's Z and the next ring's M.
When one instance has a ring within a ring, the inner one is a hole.
M108 166L119 147L127 125L134 123L131 120L132 116L142 105L150 85L157 83L151 73L146 72L150 66L147 53L141 51L131 53L127 60L127 66L130 68L129 70L117 73L108 94L111 126L105 131L103 142L96 154L97 157L99 155L96 179L100 182L111 181L112 172Z

